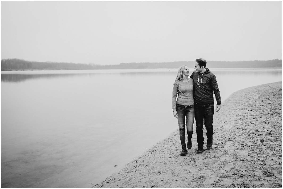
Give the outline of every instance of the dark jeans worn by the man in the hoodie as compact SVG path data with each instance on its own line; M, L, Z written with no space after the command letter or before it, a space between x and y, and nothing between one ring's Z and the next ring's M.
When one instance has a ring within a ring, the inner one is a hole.
M206 129L207 138L211 138L213 135L213 114L214 114L214 103L200 104L194 103L195 117L196 117L196 135L198 137L198 146L203 147L203 118L204 126Z

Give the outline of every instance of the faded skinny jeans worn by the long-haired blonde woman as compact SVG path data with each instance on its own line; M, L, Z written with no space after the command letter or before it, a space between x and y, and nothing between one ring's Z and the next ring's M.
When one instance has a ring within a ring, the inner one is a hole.
M194 125L194 106L190 105L176 105L176 111L178 114L178 124L179 124L179 131L180 131L180 140L181 145L186 145L186 135L185 135L185 126L187 124L187 134L188 140L192 138L193 134L193 125ZM186 118L186 122L185 122Z

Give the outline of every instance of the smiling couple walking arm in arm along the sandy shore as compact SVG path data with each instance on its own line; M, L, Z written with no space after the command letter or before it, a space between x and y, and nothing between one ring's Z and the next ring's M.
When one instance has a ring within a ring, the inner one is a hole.
M206 128L207 148L213 144L213 114L214 98L216 98L216 112L220 110L221 97L216 77L206 68L206 60L196 59L195 71L189 76L187 66L178 69L177 77L173 86L172 108L173 115L178 118L180 139L182 145L181 156L187 154L185 125L187 125L188 144L187 148L192 148L192 134L194 118L196 118L196 135L198 142L197 154L203 153L203 119ZM178 98L176 101L176 97ZM186 118L186 121L185 121Z

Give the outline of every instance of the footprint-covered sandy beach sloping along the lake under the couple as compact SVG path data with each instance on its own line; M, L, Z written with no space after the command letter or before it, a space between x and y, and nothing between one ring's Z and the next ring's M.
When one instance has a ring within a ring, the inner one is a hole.
M196 154L194 123L186 156L177 130L93 187L282 187L282 82L233 93L213 127L214 144L203 154Z

